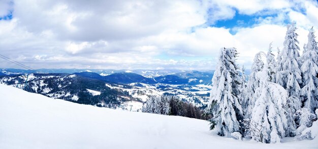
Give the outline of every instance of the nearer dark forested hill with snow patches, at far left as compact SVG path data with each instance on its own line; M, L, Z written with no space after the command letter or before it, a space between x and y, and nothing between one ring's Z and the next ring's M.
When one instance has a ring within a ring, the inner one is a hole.
M27 83L24 83L25 81ZM29 74L27 77L25 75L6 75L0 77L0 83L52 98L99 107L116 108L125 101L135 100L123 90L109 87L116 86L116 84L74 74ZM129 87L120 86L121 88Z

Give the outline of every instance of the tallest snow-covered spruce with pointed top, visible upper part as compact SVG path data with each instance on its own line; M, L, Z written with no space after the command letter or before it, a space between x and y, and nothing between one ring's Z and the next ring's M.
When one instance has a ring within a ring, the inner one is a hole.
M287 32L284 40L284 48L282 49L282 59L280 61L281 69L278 70L276 83L284 87L289 96L300 96L301 78L301 59L299 55L300 48L297 40L295 23L287 26Z

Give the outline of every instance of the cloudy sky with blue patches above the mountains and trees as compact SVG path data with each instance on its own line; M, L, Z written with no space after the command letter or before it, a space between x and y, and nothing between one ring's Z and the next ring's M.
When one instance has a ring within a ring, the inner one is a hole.
M34 69L211 70L225 46L249 68L293 21L302 49L317 1L0 0L0 54Z

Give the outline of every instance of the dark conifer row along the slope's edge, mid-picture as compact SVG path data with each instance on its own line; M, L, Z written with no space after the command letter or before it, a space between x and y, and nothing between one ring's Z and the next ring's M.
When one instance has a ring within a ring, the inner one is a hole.
M191 103L182 102L179 97L173 95L150 96L143 105L142 112L175 115L196 119L208 120L208 114Z

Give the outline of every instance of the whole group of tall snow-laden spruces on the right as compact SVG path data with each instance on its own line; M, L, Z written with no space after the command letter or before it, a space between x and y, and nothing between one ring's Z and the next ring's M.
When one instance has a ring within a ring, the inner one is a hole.
M310 127L318 114L318 47L311 28L300 55L296 31L295 23L287 26L276 56L271 44L266 53L256 54L247 82L245 68L236 64L237 49L220 49L207 109L210 129L263 143L314 137Z

